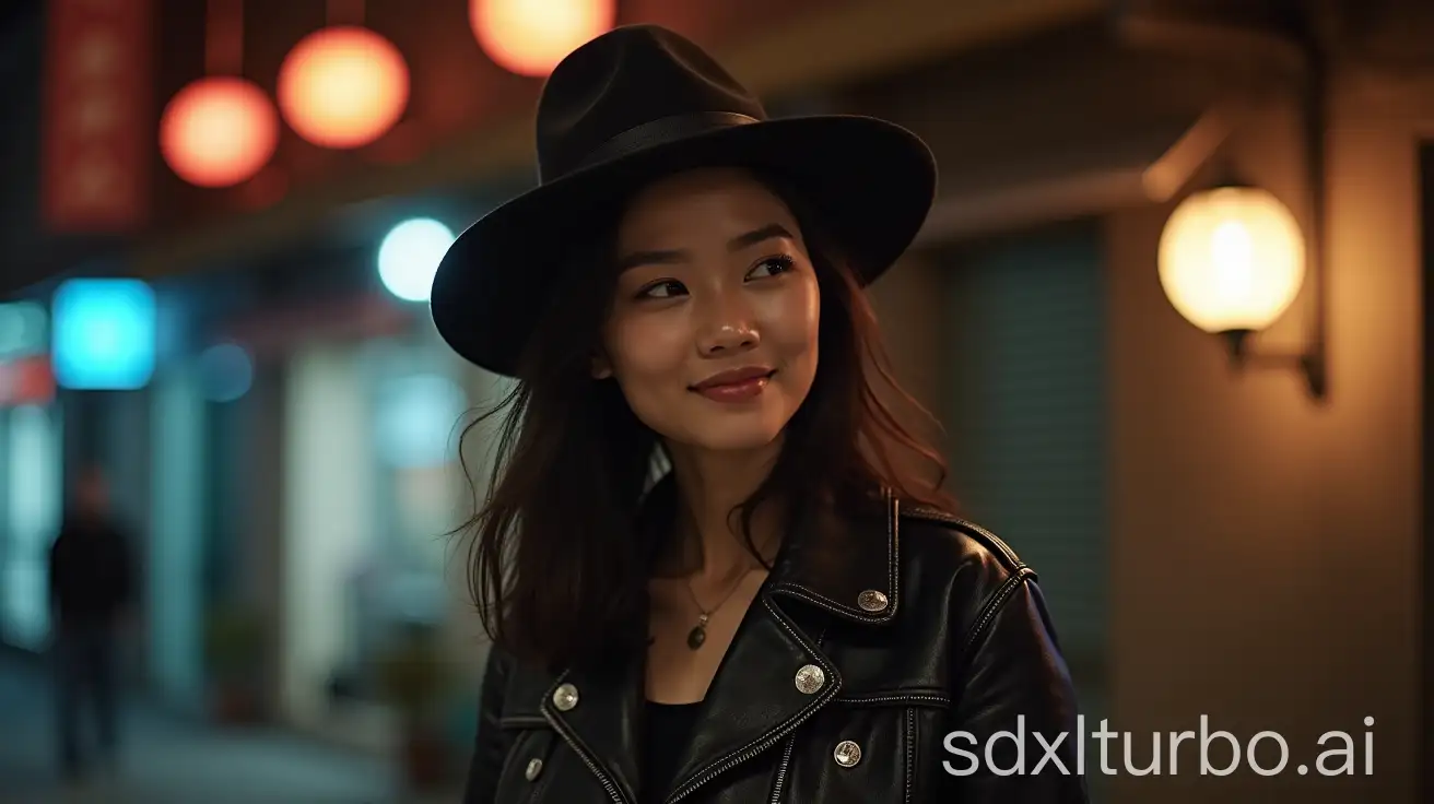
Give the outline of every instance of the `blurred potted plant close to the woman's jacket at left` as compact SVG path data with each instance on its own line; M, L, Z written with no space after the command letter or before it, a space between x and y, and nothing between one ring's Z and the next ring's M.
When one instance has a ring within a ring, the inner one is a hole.
M443 705L447 692L447 664L432 626L407 626L380 658L384 699L399 715L399 751L404 775L417 790L445 781L447 744L443 737Z

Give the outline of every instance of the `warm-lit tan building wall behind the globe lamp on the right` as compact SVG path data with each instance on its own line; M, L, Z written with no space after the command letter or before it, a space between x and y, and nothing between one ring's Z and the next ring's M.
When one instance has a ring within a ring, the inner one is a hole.
M1233 377L1166 302L1169 209L1111 215L1111 595L1121 729L1279 731L1291 767L1328 729L1374 774L1124 777L1116 801L1414 801L1420 728L1420 232L1427 87L1348 70L1329 130L1329 374L1324 404L1286 371ZM1293 120L1238 142L1240 166L1299 206ZM1296 215L1299 211L1296 209ZM1299 344L1301 310L1266 340ZM1357 737L1358 738L1358 737ZM1272 755L1271 755L1272 757Z

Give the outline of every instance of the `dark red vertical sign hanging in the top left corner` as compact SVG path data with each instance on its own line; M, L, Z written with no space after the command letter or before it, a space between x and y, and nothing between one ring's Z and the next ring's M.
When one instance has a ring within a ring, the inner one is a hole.
M149 214L153 0L49 0L40 202L50 229Z

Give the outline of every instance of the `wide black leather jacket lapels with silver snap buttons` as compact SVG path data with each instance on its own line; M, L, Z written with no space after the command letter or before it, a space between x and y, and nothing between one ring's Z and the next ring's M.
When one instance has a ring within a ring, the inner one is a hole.
M827 619L878 625L896 613L898 500L869 512L826 510L784 539L701 704L701 728L678 761L668 801L780 744L842 689L823 652ZM797 606L787 606L796 602ZM533 708L584 760L614 801L635 803L642 780L645 655L519 681L512 717Z

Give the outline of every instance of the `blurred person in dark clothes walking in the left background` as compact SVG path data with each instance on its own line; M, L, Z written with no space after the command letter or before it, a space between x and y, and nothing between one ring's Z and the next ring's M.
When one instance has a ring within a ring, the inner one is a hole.
M50 613L62 771L86 771L80 708L93 705L100 760L113 765L119 741L119 629L133 602L133 566L98 467L80 476L73 506L50 546Z

